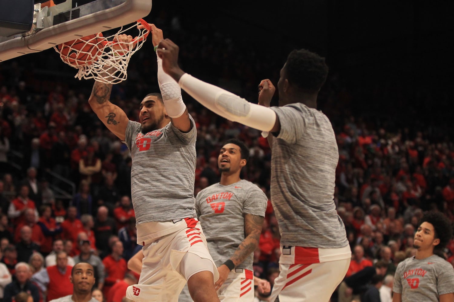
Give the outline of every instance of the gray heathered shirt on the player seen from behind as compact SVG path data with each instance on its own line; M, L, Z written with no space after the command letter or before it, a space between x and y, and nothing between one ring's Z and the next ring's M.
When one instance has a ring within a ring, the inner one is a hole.
M301 103L271 109L281 123L271 154L271 203L281 245L345 247L334 204L339 151L330 120Z

